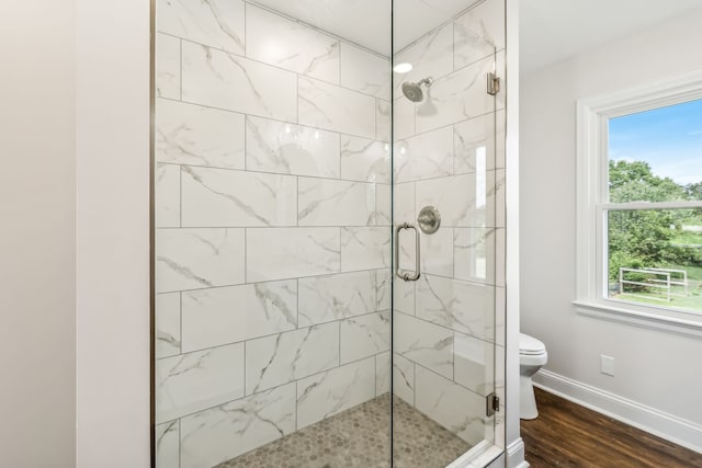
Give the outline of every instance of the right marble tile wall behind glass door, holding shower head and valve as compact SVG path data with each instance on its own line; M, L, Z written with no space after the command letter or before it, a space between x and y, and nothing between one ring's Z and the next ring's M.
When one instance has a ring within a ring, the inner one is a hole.
M486 93L488 71L505 80L503 24L503 0L485 0L394 57L414 66L394 76L395 222L426 205L442 220L421 235L420 279L395 283L393 390L471 444L503 445L502 413L485 416L487 395L505 401L505 96ZM403 96L426 77L424 101Z

